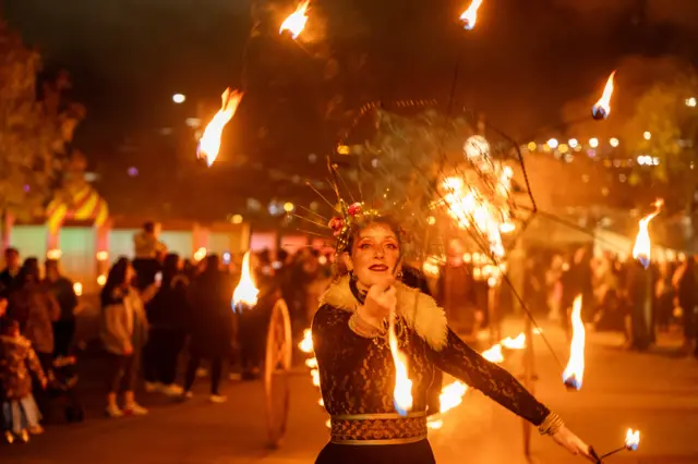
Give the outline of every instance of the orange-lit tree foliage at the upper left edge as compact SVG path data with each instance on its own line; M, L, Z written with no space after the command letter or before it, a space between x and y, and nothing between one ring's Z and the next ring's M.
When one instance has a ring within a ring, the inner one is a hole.
M39 54L0 22L0 212L40 215L60 183L68 143L84 117L61 98L65 73L40 86Z

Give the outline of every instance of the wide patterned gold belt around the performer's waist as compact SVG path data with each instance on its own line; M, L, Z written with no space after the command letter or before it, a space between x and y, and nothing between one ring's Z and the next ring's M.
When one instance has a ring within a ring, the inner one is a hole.
M405 444L426 438L426 413L350 414L330 418L333 443Z

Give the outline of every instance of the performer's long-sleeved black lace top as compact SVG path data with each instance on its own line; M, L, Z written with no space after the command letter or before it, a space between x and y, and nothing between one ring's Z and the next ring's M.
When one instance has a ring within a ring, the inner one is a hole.
M395 413L395 365L387 337L356 333L349 326L352 314L325 304L313 320L313 346L325 408L333 416ZM401 318L396 331L412 380L412 412L425 411L426 390L436 367L537 426L550 414L508 371L484 359L450 329L441 351L432 349Z

